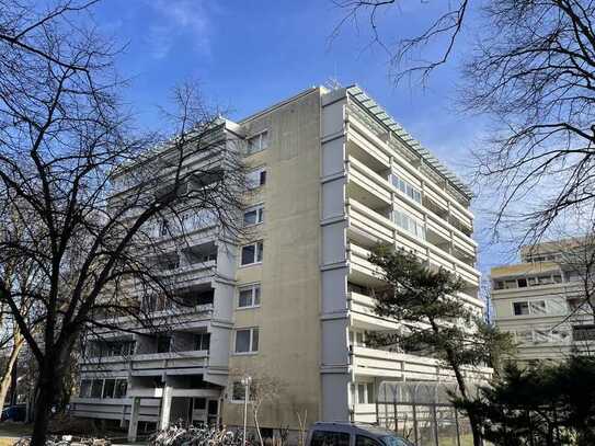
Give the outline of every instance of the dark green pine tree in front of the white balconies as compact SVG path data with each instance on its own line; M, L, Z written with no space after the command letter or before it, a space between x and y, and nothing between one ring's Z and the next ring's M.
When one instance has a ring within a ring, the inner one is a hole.
M481 311L460 297L462 279L448 271L434 271L413 253L390 245L377 247L369 261L388 284L374 294L375 312L402 323L399 332L369 333L370 341L376 345L399 345L405 351L421 348L442 359L455 374L459 398L471 401L465 369L495 365L502 353L512 348L511 335L484 322ZM479 419L472 405L466 409L473 445L479 446Z

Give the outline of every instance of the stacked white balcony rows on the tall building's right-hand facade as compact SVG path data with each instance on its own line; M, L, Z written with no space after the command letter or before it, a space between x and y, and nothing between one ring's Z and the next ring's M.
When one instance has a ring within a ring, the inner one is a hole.
M390 136L347 113L345 135L346 217L348 265L348 328L358 331L392 331L400 324L374 311L371 294L385 285L368 261L371 249L387 243L413 252L428 267L458 274L465 284L459 298L481 311L478 299L480 274L474 268L477 243L471 239L472 215L443 184L425 175L419 164L404 159L388 145ZM411 187L402 186L398 176ZM413 192L415 191L415 192ZM403 221L400 215L408 217ZM399 224L398 224L399 222ZM370 348L350 341L352 386L378 386L381 380L453 380L453 373L423 352ZM489 369L467 370L477 378ZM362 389L361 389L362 390ZM352 392L355 420L374 421L374 401L358 400ZM370 418L371 416L371 418Z

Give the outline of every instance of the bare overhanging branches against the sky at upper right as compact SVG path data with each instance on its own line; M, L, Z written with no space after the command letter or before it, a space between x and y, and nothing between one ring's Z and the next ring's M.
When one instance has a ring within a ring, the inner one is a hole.
M462 67L461 103L494 124L474 165L478 180L500 196L494 236L514 225L517 232L523 229L522 242L535 241L567 210L593 208L595 3L444 2L427 28L391 46L377 18L400 3L339 1L346 11L342 23L358 14L368 18L375 41L390 54L396 81L405 75L425 81L451 57L464 28L478 34ZM421 2L420 10L430 3ZM419 62L417 52L433 56ZM524 206L516 206L519 201Z

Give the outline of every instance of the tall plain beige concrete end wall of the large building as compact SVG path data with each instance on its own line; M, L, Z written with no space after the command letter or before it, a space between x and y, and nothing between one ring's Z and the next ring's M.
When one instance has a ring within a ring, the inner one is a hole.
M320 92L244 123L247 135L267 128L268 149L247 159L266 164L266 185L251 197L264 202L264 224L254 240L264 240L262 265L239 267L238 286L261 282L261 306L234 310L234 325L259 327L260 347L254 355L233 355L230 370L252 370L277 377L283 392L265 402L261 425L297 427L296 412L319 418L320 407ZM232 351L233 343L230 345ZM230 376L230 382L233 379ZM224 423L242 423L243 404L224 403Z

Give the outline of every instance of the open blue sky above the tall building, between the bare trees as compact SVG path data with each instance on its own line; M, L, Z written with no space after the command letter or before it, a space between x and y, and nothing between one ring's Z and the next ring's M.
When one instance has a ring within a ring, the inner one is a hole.
M387 42L415 33L435 8L403 4L379 19ZM127 100L147 127L159 126L157 106L190 78L199 80L208 101L229 110L231 118L334 78L344 85L358 83L438 158L465 171L469 150L487 129L484 119L459 113L454 104L457 59L435 72L426 88L394 87L387 54L368 45L365 20L331 39L343 15L331 0L103 0L94 8L100 30L126 44L117 68L130 79ZM464 39L460 49L466 48ZM477 232L480 266L487 271L510 255L489 245L484 220L478 216Z

